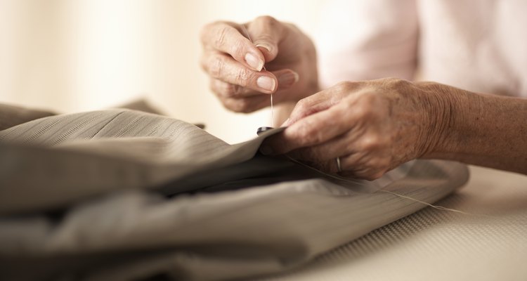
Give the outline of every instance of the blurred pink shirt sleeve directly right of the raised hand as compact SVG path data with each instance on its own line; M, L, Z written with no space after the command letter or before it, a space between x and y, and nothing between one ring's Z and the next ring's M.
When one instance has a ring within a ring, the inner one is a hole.
M339 81L412 79L417 64L415 0L335 0L320 18L322 89Z

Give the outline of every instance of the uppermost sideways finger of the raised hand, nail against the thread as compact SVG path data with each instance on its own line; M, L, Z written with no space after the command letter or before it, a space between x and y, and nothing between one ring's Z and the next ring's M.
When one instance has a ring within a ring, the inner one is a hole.
M203 46L228 53L246 67L260 71L265 63L263 54L233 25L235 24L230 22L213 22L205 25L201 33Z

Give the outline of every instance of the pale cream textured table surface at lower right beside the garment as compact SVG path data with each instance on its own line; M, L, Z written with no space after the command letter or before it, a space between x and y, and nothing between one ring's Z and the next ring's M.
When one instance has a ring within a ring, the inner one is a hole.
M527 280L527 176L470 166L467 185L301 268L262 280Z

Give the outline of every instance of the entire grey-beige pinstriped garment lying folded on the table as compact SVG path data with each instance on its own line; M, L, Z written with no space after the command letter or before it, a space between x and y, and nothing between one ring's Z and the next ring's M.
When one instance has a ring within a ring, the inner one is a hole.
M372 182L330 178L257 154L280 130L229 145L177 119L103 110L0 131L0 279L274 273L468 178L462 164L425 160Z

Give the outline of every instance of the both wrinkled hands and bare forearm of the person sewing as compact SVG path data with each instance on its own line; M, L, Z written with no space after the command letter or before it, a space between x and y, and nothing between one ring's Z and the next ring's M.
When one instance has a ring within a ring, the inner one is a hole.
M315 47L297 27L268 16L243 26L249 35L233 22L205 26L201 64L229 110L259 110L271 93L282 104L279 115L298 102L263 154L287 153L370 180L421 157L527 174L527 123L519 121L527 119L525 98L401 79L344 81L320 91Z

